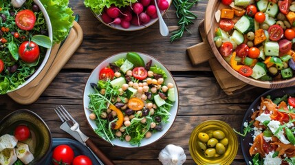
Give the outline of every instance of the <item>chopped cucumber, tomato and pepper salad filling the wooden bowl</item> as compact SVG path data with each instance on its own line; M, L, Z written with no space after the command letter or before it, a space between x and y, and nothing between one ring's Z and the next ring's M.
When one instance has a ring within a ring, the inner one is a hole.
M292 78L295 3L221 0L215 45L232 69L257 80ZM219 20L220 19L220 20Z

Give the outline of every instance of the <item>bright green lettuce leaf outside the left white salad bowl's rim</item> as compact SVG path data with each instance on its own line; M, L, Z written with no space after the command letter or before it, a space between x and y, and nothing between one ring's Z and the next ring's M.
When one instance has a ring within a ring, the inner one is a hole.
M74 25L73 11L68 7L69 0L41 0L52 24L53 43L60 43Z

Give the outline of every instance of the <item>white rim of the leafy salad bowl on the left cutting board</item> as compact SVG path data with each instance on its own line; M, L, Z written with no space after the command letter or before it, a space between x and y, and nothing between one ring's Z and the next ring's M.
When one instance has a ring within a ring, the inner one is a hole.
M47 25L48 36L49 36L50 40L52 41L52 25L50 22L50 17L48 16L47 11L45 10L43 4L39 0L34 0L34 3L36 3L36 5L39 6L39 9L43 12L43 15L44 15L44 18L46 21L46 25ZM12 91L17 91L18 89L21 89L25 85L28 85L28 83L30 83L32 80L34 80L34 78L36 78L36 76L38 76L40 74L43 67L46 65L48 59L50 58L51 50L52 50L52 47L47 49L45 57L44 57L41 65L38 67L38 69L36 69L36 72L34 72L34 74L32 74L32 76L30 76L30 78L28 78L28 80L25 81L25 83L23 83L22 85L19 85L19 87L17 87L16 89L12 89L12 90L7 91L7 93L12 92Z

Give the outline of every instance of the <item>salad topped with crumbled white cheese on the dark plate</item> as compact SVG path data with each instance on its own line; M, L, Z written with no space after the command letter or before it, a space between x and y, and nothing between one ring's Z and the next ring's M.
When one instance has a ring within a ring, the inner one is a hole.
M295 97L261 98L250 120L243 123L243 135L250 141L249 164L295 164Z

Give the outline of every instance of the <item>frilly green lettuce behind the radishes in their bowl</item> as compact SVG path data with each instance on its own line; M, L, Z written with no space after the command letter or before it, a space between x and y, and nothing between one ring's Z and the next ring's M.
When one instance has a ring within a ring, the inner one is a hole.
M102 14L105 7L109 8L111 5L116 5L116 7L122 8L136 1L137 0L85 0L84 5L87 8L91 8L96 14Z

